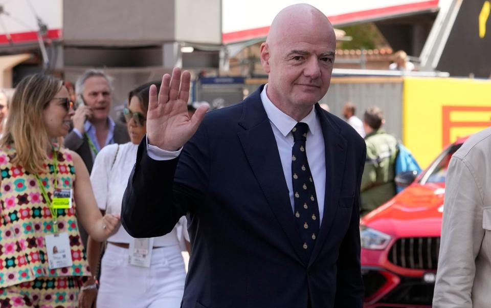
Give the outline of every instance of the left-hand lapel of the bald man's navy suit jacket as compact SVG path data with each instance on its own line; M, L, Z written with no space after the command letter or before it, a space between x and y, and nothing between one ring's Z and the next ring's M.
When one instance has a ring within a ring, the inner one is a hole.
M302 242L295 225L278 146L262 106L260 91L262 86L244 101L243 117L239 125L245 130L240 131L238 137L267 203L292 244L299 261L306 265L307 255L301 250Z

